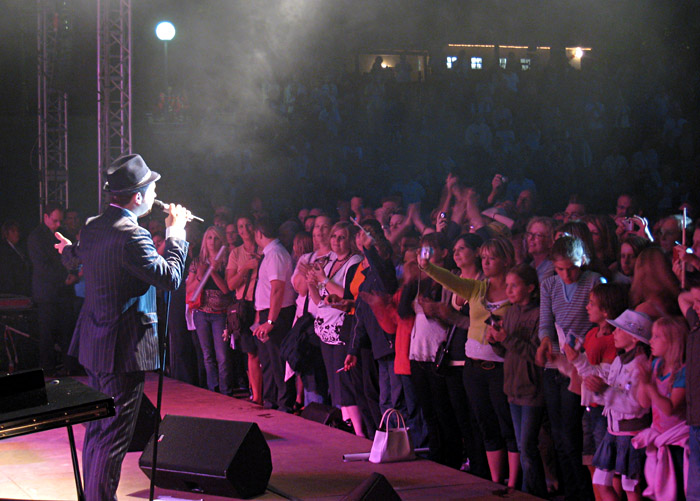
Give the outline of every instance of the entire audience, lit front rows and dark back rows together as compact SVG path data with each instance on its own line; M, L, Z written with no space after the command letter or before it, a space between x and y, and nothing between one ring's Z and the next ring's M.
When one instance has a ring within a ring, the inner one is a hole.
M698 79L634 64L266 82L293 183L188 226L186 280L159 296L168 374L335 406L369 438L399 409L430 459L504 493L698 499ZM47 375L81 371L82 271L53 247L80 219L48 205L26 239L2 226L0 293L33 298ZM162 217L142 221L163 252Z

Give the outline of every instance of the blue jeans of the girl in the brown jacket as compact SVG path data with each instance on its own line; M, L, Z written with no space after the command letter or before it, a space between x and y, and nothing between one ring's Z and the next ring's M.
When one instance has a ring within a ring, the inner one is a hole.
M543 414L544 407L510 404L523 469L523 492L539 497L547 497L544 466L537 446Z

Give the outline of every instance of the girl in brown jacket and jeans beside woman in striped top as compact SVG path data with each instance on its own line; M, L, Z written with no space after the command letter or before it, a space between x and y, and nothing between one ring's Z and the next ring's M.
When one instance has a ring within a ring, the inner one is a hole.
M535 365L540 345L540 297L537 271L529 264L519 264L506 275L506 295L511 307L502 327L489 326L487 338L494 351L504 357L503 389L508 396L515 438L523 470L523 492L546 497L544 467L538 448L544 394L542 368Z

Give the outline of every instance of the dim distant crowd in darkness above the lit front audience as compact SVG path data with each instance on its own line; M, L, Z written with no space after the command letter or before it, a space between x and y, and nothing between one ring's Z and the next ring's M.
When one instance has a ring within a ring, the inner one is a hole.
M183 154L173 155L171 167L182 164L187 173L197 165L199 178L214 170L217 185L206 193L216 203L244 207L257 194L280 217L299 203L332 207L350 193L425 201L448 172L480 190L503 173L509 196L529 180L556 186L541 193L548 213L574 192L600 207L634 192L653 200L645 209L654 216L693 197L695 66L680 55L593 51L576 70L554 54L523 71L513 57L505 68L471 69L464 55L448 69L435 53L419 81L398 78L395 68L357 74L327 62L264 78L251 93L255 103L224 95L213 106L206 89L192 88L191 123L230 129L222 137L207 129L215 137L205 149L205 138L173 145ZM224 107L235 119L220 116ZM198 177L179 199L187 200Z

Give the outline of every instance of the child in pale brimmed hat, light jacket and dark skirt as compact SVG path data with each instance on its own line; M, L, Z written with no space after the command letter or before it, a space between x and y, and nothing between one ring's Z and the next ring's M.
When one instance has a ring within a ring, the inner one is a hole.
M645 345L651 338L651 319L644 313L625 310L608 322L615 327L613 338L620 353L610 366L591 365L584 354L568 343L564 351L582 377L595 374L608 385L603 411L608 429L593 457L593 483L599 486L604 499L622 499L618 494L621 485L628 500L641 500L639 478L645 454L632 447L632 437L651 424L648 406L637 399L639 375L648 364Z

